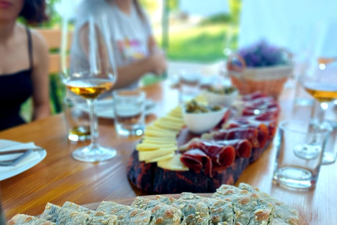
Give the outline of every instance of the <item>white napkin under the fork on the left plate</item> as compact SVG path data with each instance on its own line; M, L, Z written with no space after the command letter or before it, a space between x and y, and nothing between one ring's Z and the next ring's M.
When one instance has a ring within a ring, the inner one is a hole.
M26 148L39 148L39 147L35 146L33 142L17 143L11 146L6 146L5 148L1 148L0 146L0 152L7 151L7 150L26 149ZM14 153L10 155L0 155L0 160L12 160L14 158L17 158L21 154L22 153ZM33 151L32 153L27 155L26 158L24 158L21 162L19 162L17 165L13 167L1 167L0 166L0 174L4 172L13 172L14 170L20 169L21 167L26 167L31 162L39 160L40 158L41 158L41 155L37 151Z

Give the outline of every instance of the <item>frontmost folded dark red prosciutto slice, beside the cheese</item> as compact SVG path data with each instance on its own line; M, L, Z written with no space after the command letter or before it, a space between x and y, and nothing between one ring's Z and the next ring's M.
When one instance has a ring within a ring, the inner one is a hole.
M201 171L201 169L204 169L206 175L212 175L212 160L209 155L206 155L206 153L200 149L187 150L187 152L180 157L180 161L183 162L186 167L194 171Z

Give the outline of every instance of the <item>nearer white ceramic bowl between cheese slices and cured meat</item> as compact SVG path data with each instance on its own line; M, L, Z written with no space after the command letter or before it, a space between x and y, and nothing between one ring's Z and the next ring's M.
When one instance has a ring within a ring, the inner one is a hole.
M187 128L194 134L202 134L209 131L220 122L227 108L209 113L186 113L183 108L183 118Z

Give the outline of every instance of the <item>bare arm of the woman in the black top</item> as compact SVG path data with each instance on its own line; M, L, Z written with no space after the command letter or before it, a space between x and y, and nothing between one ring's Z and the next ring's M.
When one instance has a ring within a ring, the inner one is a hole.
M32 31L33 45L33 120L48 117L51 113L49 105L49 58L46 41L37 32Z

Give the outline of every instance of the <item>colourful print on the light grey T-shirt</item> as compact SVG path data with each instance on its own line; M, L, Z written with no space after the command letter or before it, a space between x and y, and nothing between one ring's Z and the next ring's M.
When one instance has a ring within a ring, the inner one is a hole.
M118 51L124 63L131 63L146 56L146 49L138 39L117 40Z

